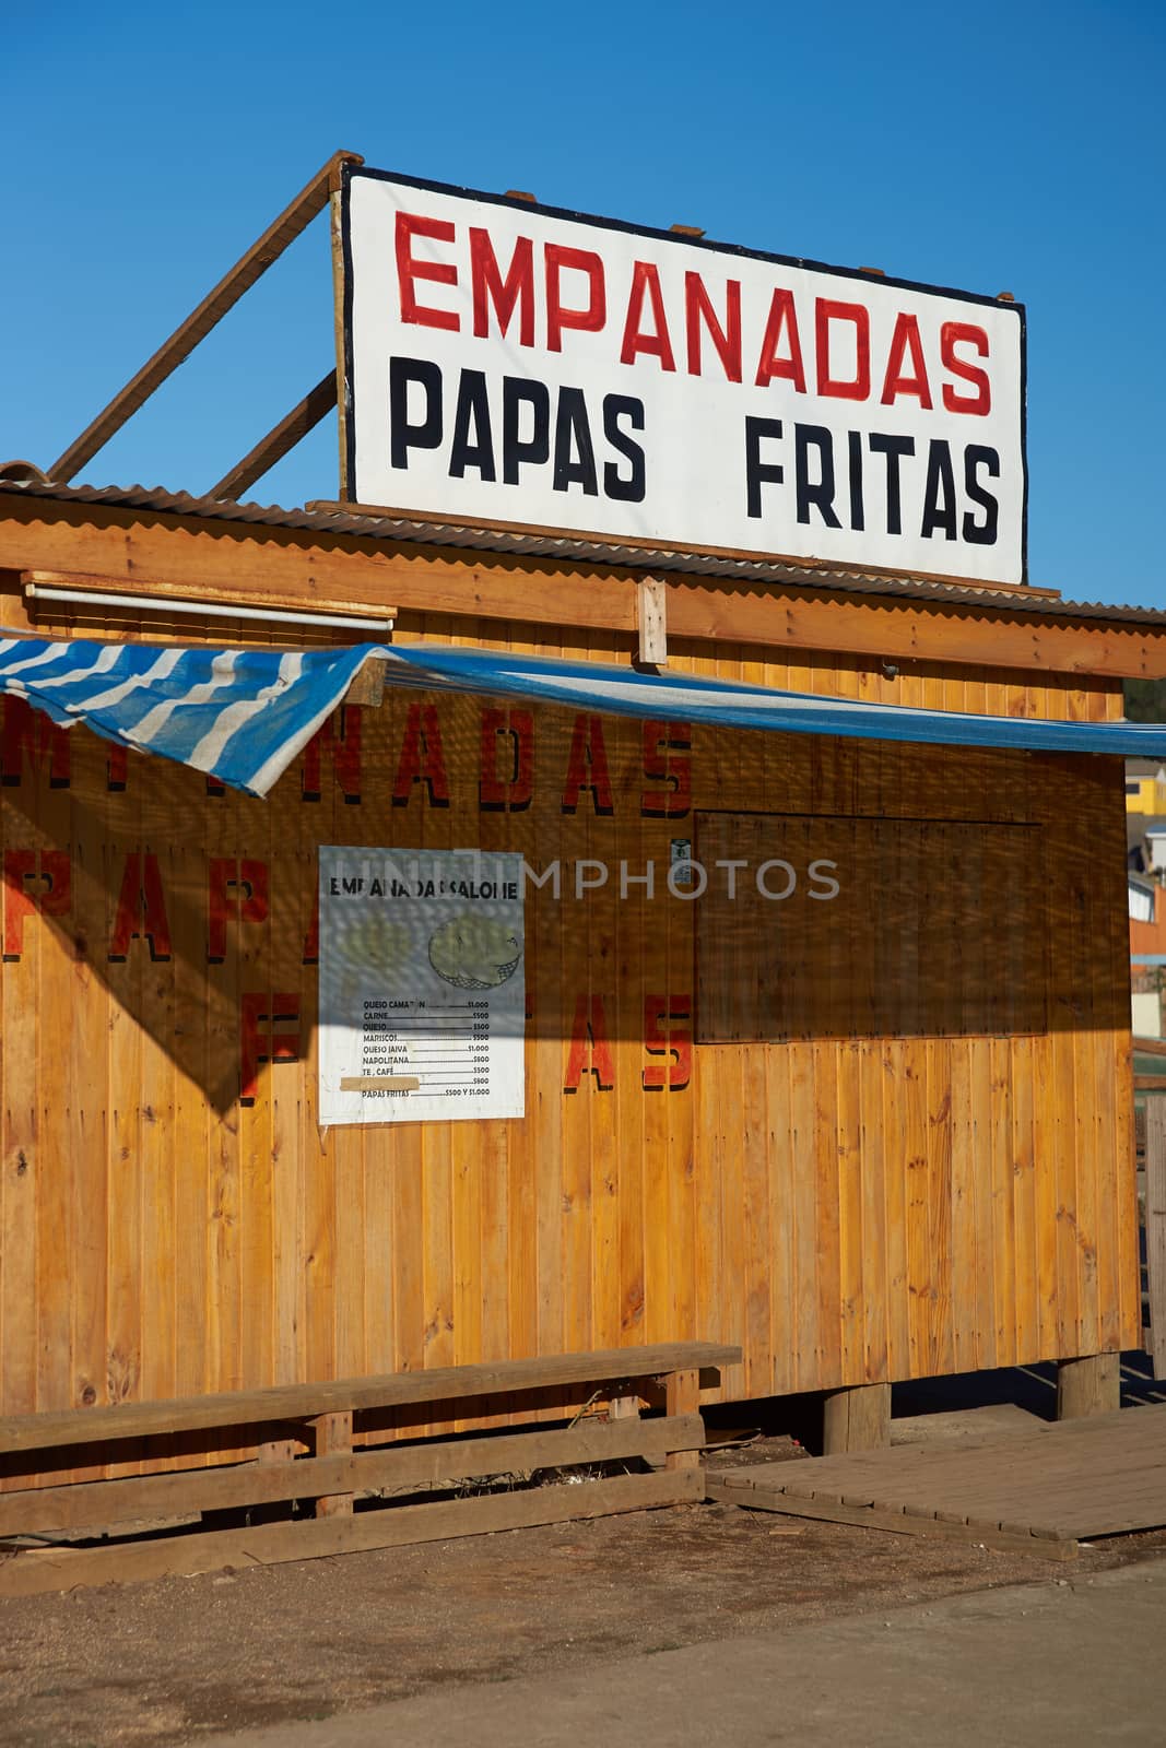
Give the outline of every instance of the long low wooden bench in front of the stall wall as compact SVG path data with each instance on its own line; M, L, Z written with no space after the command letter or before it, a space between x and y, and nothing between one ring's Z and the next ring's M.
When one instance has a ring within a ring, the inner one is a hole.
M140 1449L126 1453L128 1442L147 1440L149 1453L149 1440L184 1433L208 1435L212 1447L215 1439L222 1449L257 1447L257 1456L241 1463L0 1491L0 1596L313 1559L701 1500L701 1372L739 1360L739 1348L682 1341L0 1418L0 1472L9 1479L42 1481L45 1453L59 1461L82 1451L80 1461L93 1463L98 1451L96 1461L117 1463L140 1456ZM572 1386L594 1386L614 1412L607 1419L577 1416L558 1428L353 1446L355 1433L374 1435L367 1423L385 1411L458 1404L468 1418L491 1412L491 1398L505 1397L503 1409L521 1416L523 1398ZM642 1419L640 1395L654 1388L663 1390L664 1414ZM297 1444L306 1454L294 1454ZM554 1477L563 1468L633 1460L663 1467L586 1486ZM549 1472L547 1482L531 1484L542 1472ZM432 1495L488 1477L517 1477L519 1484L425 1503L378 1498ZM362 1509L355 1509L358 1496ZM315 1517L290 1519L292 1502L315 1502ZM287 1521L248 1521L280 1507ZM208 1530L212 1514L229 1523ZM239 1523L239 1514L248 1517ZM192 1516L199 1517L196 1530L175 1528ZM163 1524L163 1533L143 1535L143 1524ZM108 1533L122 1540L108 1540ZM73 1545L28 1543L66 1535ZM101 1545L94 1545L98 1536Z

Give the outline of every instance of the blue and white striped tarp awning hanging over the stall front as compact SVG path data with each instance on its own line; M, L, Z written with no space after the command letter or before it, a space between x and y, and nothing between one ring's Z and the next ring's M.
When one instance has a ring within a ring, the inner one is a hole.
M388 685L523 697L622 717L1166 759L1166 724L974 717L439 643L215 650L7 638L0 640L0 692L24 697L61 727L84 722L105 739L194 766L248 795L266 795L371 659L385 664Z

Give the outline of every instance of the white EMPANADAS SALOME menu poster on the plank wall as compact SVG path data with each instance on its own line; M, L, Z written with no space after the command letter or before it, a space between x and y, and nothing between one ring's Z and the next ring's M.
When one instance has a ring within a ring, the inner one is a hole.
M320 1122L521 1117L523 858L320 848Z

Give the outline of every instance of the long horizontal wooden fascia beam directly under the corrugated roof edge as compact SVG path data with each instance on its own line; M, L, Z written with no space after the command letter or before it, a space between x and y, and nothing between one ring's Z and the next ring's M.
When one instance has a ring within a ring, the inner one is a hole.
M103 503L56 503L0 486L0 568L122 577L142 589L262 601L274 594L400 612L468 614L636 636L636 575L572 559L393 544L351 533L267 528ZM757 587L708 577L668 579L668 636L759 649L1068 673L1082 680L1166 676L1166 628L1010 614L1007 605L914 603L829 587ZM631 643L635 649L635 642Z

